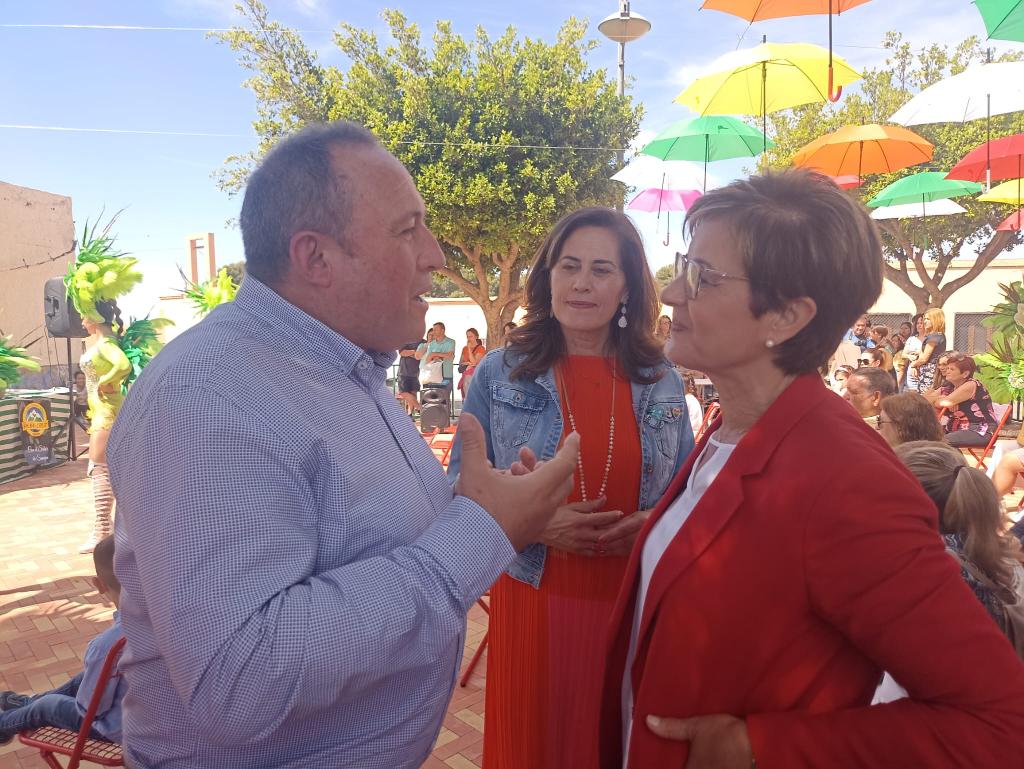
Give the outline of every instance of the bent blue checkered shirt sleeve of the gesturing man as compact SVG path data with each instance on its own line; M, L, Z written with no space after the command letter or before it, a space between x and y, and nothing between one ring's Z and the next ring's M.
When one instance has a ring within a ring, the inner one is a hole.
M321 520L317 460L240 408L202 389L155 393L134 439L112 445L137 570L122 582L136 584L189 720L215 743L260 739L436 665L515 556L457 497L410 545L317 570L321 539L345 530L343 516Z

